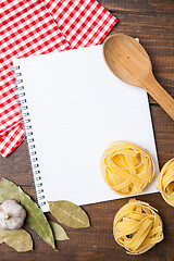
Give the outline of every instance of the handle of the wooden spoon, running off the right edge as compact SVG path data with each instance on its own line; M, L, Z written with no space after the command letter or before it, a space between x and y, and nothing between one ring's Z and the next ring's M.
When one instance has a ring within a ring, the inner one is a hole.
M141 85L174 121L174 99L157 82L154 76L150 75Z

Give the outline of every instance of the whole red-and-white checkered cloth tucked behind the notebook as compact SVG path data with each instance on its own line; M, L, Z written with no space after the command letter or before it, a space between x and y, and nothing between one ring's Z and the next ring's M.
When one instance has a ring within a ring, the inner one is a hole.
M25 139L12 58L101 44L116 22L96 0L0 2L0 154Z

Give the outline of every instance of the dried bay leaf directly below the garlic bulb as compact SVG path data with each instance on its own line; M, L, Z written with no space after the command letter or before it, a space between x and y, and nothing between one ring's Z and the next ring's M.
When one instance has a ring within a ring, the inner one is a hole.
M27 252L33 250L33 240L30 235L24 229L0 231L3 241L14 248L17 252Z

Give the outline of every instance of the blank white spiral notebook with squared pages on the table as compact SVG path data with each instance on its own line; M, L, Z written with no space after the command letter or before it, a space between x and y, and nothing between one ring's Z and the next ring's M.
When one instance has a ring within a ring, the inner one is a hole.
M14 66L42 211L49 210L50 200L87 204L123 197L108 187L99 165L115 140L150 151L157 172L144 192L157 191L147 92L110 72L102 46L16 59Z

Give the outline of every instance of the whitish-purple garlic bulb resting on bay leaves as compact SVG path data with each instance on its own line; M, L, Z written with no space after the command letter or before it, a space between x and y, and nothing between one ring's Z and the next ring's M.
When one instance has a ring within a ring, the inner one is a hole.
M18 229L25 217L26 211L15 200L7 200L0 204L0 229Z

